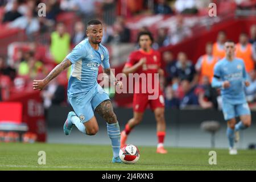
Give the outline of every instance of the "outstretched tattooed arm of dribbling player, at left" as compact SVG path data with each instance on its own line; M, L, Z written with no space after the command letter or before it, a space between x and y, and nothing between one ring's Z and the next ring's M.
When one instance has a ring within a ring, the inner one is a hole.
M43 80L34 80L33 81L33 88L34 90L42 90L44 86L48 84L53 78L58 76L62 71L67 69L71 65L71 61L65 58L60 64L58 64L52 71L47 75L46 78Z

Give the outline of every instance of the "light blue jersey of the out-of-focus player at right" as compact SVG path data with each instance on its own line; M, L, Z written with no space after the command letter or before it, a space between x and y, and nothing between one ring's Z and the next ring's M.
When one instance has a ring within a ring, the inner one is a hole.
M229 88L222 88L222 82L228 80ZM214 77L212 86L221 88L222 100L232 104L242 104L246 102L245 84L247 73L242 59L234 58L232 61L226 58L221 59L214 66Z

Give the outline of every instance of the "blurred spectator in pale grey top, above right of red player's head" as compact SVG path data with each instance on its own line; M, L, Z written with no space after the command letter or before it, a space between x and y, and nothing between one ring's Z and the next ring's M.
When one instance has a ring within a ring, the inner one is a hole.
M175 45L184 40L185 38L192 36L192 31L188 26L185 26L184 18L182 15L177 16L176 26L169 31L169 42L167 42L166 44ZM167 46L166 44L164 46Z

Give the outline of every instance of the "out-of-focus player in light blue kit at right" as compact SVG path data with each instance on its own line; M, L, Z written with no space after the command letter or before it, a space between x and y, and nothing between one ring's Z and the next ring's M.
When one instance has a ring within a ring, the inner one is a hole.
M225 43L226 56L214 66L212 86L221 88L222 112L228 122L226 135L229 140L229 154L236 155L235 133L251 125L249 105L245 98L244 86L249 86L245 64L234 56L235 44L232 40ZM241 121L236 123L236 117Z

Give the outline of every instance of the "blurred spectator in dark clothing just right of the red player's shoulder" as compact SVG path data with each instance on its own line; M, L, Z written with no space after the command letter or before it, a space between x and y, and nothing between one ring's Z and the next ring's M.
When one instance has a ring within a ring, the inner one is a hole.
M172 67L176 64L174 60L174 55L171 51L165 51L163 53L163 61L166 64L166 84L170 84L172 81Z

